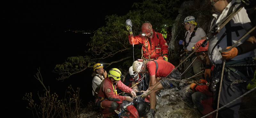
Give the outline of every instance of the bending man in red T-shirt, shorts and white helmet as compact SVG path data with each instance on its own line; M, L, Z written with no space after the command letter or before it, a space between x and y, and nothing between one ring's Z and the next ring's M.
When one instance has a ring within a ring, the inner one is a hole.
M171 71L175 68L172 63L166 62L164 60L153 60L149 61L148 63L142 63L139 61L135 61L132 64L132 68L135 72L139 73L145 73L148 72L150 76L149 80L149 88L146 92L151 90L151 93L149 94L149 101L150 101L150 110L148 113L148 118L155 118L155 106L156 106L156 91L164 90L172 87L172 85L176 86L180 89L178 86L178 81L172 81L170 79L176 79L180 80L180 72L178 70L174 70L174 72L171 73ZM162 80L156 80L156 77L166 77L169 73L171 73L167 78ZM161 82L161 83L160 83ZM159 84L160 83L160 84ZM159 84L159 85L158 85ZM156 86L157 85L157 86ZM156 88L154 88L156 87ZM154 88L154 89L153 89ZM144 93L146 93L144 92ZM143 93L143 94L144 94Z

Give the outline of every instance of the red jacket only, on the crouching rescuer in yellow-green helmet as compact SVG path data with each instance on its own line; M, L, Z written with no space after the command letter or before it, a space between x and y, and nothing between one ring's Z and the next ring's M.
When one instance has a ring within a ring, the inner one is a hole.
M114 86L114 88L113 88ZM108 99L109 101L123 101L126 100L125 96L119 96L116 95L116 86L121 89L123 92L130 93L133 91L128 86L124 85L121 81L116 83L116 85L113 85L111 80L107 77L102 81L102 84L100 86L100 90L98 92L98 97L104 97Z

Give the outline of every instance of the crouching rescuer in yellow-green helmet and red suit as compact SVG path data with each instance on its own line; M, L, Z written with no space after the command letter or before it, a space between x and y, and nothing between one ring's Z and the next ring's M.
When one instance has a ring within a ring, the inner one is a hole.
M119 80L123 77L121 71L117 68L113 68L109 70L108 77L105 78L100 86L100 90L98 92L98 100L100 100L100 107L103 109L101 114L103 118L107 118L108 115L118 110L120 107L120 103L123 100L127 100L132 102L132 98L129 96L119 96L116 92L116 87L121 89L126 93L130 93L132 97L136 96L136 93L130 89L128 86L124 85Z

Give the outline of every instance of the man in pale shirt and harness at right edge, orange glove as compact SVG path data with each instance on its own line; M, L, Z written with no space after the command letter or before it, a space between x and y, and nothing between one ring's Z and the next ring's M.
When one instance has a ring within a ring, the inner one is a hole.
M219 23L226 18L232 11L241 3L236 3L236 0L214 0L212 2L213 10L216 11L212 16L212 26L219 25ZM214 64L213 71L219 71L221 75L222 60L227 60L225 65L241 65L253 63L252 57L254 56L253 49L256 48L255 32L251 33L253 38L250 39L250 35L247 35L241 42L239 42L234 48L231 48L228 52L220 53L222 49L229 48L237 42L247 31L252 28L250 19L246 13L246 10L242 8L220 31L209 40L208 54ZM255 30L254 30L255 31ZM248 39L249 38L249 39ZM239 67L226 67L224 69L224 76L222 80L222 86L220 91L220 103L219 107L222 107L232 100L235 100L246 92L246 82L253 77L254 68L239 66ZM214 73L213 73L214 74ZM213 76L212 76L213 77ZM212 81L218 81L220 77L212 78ZM214 92L214 100L217 101L219 83L215 85L212 83L212 91ZM239 118L239 108L242 98L231 103L227 107L219 110L219 118Z

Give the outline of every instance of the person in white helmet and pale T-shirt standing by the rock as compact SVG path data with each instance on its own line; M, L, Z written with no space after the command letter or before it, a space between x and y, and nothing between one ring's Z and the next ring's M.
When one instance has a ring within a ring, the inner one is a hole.
M202 28L196 27L196 19L193 16L188 16L184 19L183 25L186 28L187 32L185 33L185 41L180 40L179 44L184 46L184 49L189 51L189 53L192 53L192 48L196 44L197 41L200 41L202 39L206 39L205 32ZM188 55L182 56L182 60L186 59ZM188 58L188 61L186 61L187 64L184 64L185 70L188 68L188 66L196 59L196 55L190 56ZM199 60L195 60L194 63L192 63L192 66L187 70L185 73L185 78L192 77L194 74L197 74L201 72L201 63ZM199 80L202 78L202 76L195 77L196 80Z

